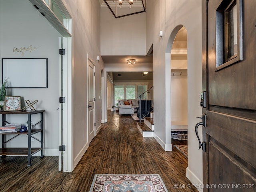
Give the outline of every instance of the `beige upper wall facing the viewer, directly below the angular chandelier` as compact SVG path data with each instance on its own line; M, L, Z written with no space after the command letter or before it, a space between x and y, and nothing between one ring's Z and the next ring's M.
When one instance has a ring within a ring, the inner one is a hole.
M101 55L146 55L146 14L115 18L101 8Z

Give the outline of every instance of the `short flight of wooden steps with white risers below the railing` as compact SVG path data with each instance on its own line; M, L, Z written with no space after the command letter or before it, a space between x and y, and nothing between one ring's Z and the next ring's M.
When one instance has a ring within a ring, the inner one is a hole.
M143 137L154 136L154 119L153 112L150 112L150 117L144 117L144 122L137 122L137 128Z

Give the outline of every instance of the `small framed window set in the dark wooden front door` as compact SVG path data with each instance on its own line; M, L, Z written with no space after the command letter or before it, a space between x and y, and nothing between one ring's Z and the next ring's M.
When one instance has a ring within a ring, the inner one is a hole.
M241 0L222 0L216 9L216 71L241 60Z

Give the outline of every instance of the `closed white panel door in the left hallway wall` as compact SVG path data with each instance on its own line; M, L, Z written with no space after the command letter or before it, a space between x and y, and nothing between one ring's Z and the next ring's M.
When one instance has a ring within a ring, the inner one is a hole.
M88 58L88 68L87 68L87 98L88 98L88 143L92 141L95 136L95 110L94 110L94 100L95 100L95 83L94 83L94 64Z

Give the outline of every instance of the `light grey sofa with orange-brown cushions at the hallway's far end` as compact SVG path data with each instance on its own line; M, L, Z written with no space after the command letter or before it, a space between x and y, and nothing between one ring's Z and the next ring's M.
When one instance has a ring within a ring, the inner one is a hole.
M118 99L119 115L134 114L137 112L138 101L136 99Z

